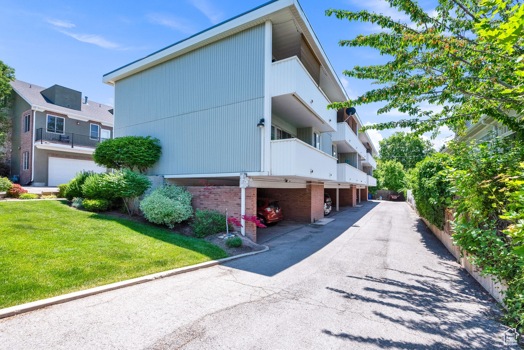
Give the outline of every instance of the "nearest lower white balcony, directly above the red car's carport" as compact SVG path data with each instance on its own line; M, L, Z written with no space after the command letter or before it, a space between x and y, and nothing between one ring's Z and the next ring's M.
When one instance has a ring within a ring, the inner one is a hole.
M296 138L271 141L271 175L336 180L336 158Z

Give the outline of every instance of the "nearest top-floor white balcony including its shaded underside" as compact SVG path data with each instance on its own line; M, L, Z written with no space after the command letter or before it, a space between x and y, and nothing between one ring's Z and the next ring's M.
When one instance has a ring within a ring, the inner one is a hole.
M277 115L297 128L314 127L321 133L336 131L336 111L297 56L272 63L271 104Z

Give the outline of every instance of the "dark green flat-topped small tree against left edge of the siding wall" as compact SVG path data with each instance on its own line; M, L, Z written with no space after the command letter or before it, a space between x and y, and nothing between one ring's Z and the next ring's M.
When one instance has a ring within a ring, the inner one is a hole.
M138 169L145 173L162 154L157 138L151 136L124 136L103 141L96 147L93 160L112 169Z

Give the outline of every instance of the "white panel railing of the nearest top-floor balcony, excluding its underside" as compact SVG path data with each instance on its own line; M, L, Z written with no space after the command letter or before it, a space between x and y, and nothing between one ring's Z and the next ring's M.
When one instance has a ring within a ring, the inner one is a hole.
M327 106L331 102L297 56L272 63L271 96L281 95L288 95L289 99L296 97L302 105L313 111L314 116L310 117L320 120L321 125L316 126L320 132L336 130L336 111L328 110Z

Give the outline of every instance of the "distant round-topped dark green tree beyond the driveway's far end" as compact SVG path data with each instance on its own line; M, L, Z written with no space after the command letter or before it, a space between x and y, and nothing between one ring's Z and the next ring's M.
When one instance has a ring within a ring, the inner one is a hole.
M435 152L431 141L403 132L397 132L379 141L379 145L381 159L396 160L405 169L414 168L419 161Z

